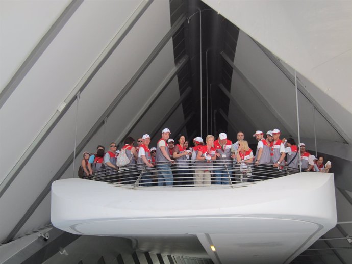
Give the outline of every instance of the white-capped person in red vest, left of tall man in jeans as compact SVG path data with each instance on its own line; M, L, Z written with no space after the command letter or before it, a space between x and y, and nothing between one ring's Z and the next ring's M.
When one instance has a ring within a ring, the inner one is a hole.
M150 143L150 136L148 134L144 134L142 140L142 144L139 145L137 163L145 164L143 169L146 169L146 167L152 168L152 154L150 154L150 149L148 147ZM152 178L150 175L150 171L143 172L140 181L142 186L152 186Z

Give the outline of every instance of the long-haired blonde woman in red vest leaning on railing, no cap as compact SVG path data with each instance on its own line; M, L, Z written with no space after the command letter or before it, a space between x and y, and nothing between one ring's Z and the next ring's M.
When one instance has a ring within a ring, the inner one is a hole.
M253 157L253 151L249 148L248 142L240 140L238 142L236 160L241 163L241 182L248 182L248 178L252 178L252 167L250 167L250 164L253 163Z

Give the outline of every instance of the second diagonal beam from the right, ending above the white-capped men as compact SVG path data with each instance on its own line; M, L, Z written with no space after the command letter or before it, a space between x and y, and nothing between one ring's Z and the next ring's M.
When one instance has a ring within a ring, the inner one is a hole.
M285 127L285 129L291 134L296 135L295 129L291 127L289 123L286 122L285 118L283 118L278 111L276 111L272 105L265 99L263 94L247 79L247 77L236 67L236 65L231 61L231 59L225 54L225 52L221 52L222 58L232 67L233 70L242 78L242 80L248 85L250 90L259 98L259 100L266 106L266 108L270 111L270 113L278 119L281 124Z

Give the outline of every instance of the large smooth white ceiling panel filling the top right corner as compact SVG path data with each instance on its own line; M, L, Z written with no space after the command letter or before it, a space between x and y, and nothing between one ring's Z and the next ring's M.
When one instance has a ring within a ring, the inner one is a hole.
M351 1L203 2L352 113Z

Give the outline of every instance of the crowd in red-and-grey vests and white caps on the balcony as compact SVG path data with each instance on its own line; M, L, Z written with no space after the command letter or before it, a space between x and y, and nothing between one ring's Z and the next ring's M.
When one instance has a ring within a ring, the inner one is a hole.
M127 137L120 150L117 150L114 142L110 143L106 152L104 146L98 145L96 153L83 153L79 176L89 178L102 170L104 175L109 175L135 166L140 168L140 181L144 186L200 186L230 184L232 175L227 168L229 161L238 168L241 182L250 181L254 175L259 179L265 177L267 172L254 172L259 166L267 171L281 171L285 168L294 172L297 172L299 166L301 171L315 172L329 172L331 168L329 161L324 165L323 156L311 155L304 143L297 147L293 138L280 139L280 130L276 128L266 134L260 130L255 132L253 137L258 141L255 155L241 131L237 133L235 143L227 138L227 134L220 133L217 139L208 135L205 143L201 137L196 137L192 140L192 147L184 135L179 135L175 142L170 134L170 130L164 128L156 147L152 148L149 148L151 139L148 134L138 138L136 146L135 140ZM125 162L120 165L123 159ZM152 170L144 168L156 168L156 177L153 177ZM153 178L157 178L157 181Z

